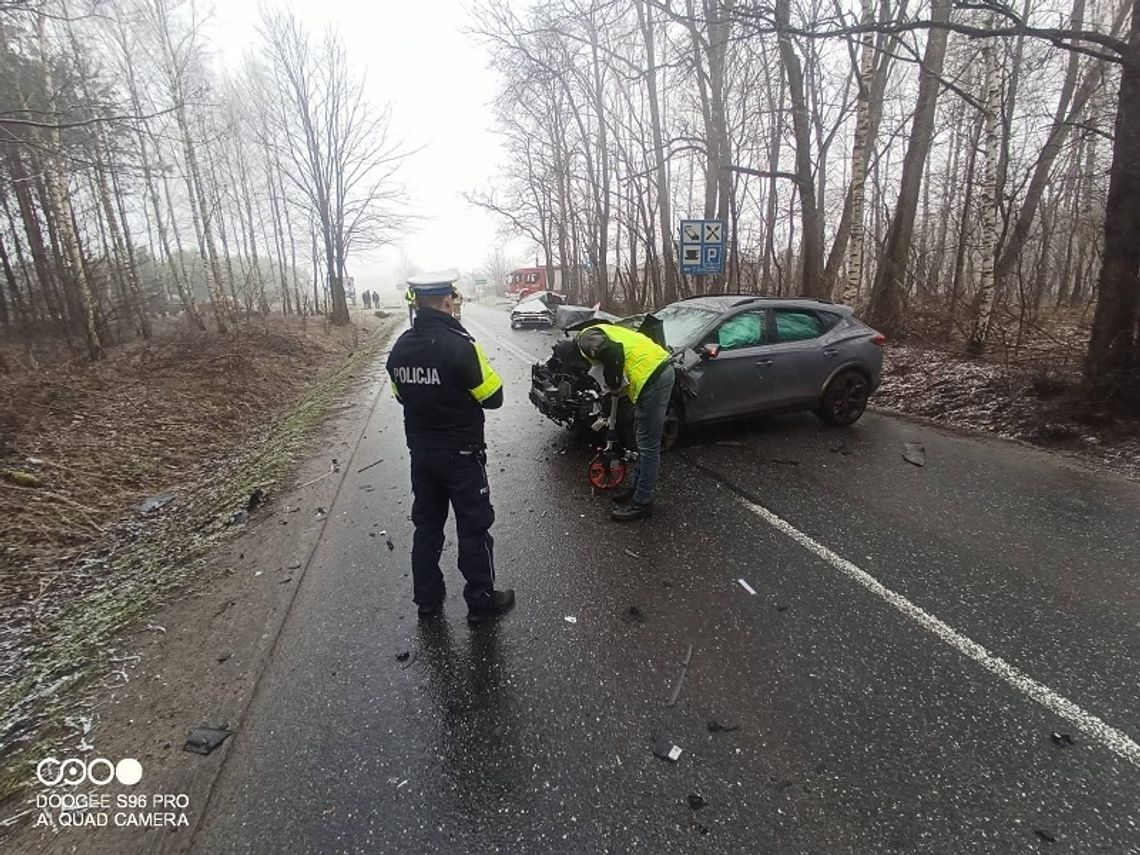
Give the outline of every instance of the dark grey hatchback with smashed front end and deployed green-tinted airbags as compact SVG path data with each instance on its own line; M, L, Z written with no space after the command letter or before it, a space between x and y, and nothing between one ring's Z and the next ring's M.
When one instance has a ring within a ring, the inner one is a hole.
M825 301L722 294L609 323L641 328L673 352L678 370L667 448L686 426L760 413L807 409L830 425L853 424L882 375L886 337L849 308ZM601 399L596 370L560 356L559 345L531 369L530 400L568 427L588 432L603 412Z

